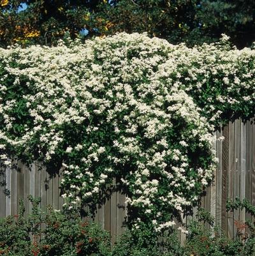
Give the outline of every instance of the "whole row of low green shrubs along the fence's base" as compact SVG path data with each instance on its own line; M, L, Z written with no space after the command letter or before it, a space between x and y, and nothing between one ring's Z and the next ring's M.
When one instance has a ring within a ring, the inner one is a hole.
M108 233L93 222L82 221L76 210L55 211L49 207L41 211L40 199L29 197L29 200L33 209L27 218L20 200L18 215L0 219L3 256L251 256L255 253L254 230L245 240L239 232L232 241L217 226L205 228L205 223L212 222L205 209L200 209L198 219L187 225L183 246L176 232L159 235L143 225L127 229L110 250ZM249 207L249 202L244 204ZM237 209L238 205L244 206L237 200L228 204L228 209Z

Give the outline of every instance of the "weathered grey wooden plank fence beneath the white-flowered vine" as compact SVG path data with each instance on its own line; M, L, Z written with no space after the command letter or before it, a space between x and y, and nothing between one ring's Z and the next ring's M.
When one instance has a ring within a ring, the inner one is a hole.
M245 222L251 216L245 215L244 210L227 213L227 199L247 198L253 205L255 204L255 124L251 121L242 123L238 119L225 126L221 132L215 132L215 136L224 136L225 139L223 142L215 143L219 163L215 169L214 183L205 190L201 206L210 211L215 223L233 238L237 232L235 223ZM17 165L20 171L4 170L6 190L10 191L10 196L6 196L1 190L0 217L17 214L20 198L24 199L26 214L31 213L31 203L27 195L41 197L42 209L47 205L61 209L64 203L59 195L61 176L50 178L46 170L38 170L36 163L32 165L30 171L20 162ZM125 216L124 196L113 193L111 199L98 209L95 220L110 231L114 242L116 235L122 234L124 230L122 223ZM192 218L193 216L187 216L184 222L189 222ZM185 236L180 234L180 240L184 241L184 239Z

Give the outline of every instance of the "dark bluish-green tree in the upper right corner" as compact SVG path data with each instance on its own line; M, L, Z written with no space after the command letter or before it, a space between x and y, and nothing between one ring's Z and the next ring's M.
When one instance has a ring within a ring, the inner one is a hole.
M239 48L255 41L253 0L202 0L196 13L201 34L215 40L226 33Z

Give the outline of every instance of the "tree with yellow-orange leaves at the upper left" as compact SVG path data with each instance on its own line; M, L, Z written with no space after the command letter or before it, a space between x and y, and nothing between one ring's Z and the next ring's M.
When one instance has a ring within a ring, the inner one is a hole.
M25 10L20 10L22 4ZM52 45L66 33L75 38L98 4L99 0L1 0L1 46L16 42Z

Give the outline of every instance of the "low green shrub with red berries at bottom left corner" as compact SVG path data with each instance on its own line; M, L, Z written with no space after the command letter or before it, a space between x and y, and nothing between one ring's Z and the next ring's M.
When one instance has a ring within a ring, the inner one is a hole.
M41 211L40 199L29 197L31 215L19 213L0 219L0 254L4 256L110 255L108 233L92 222L82 221L73 212Z

